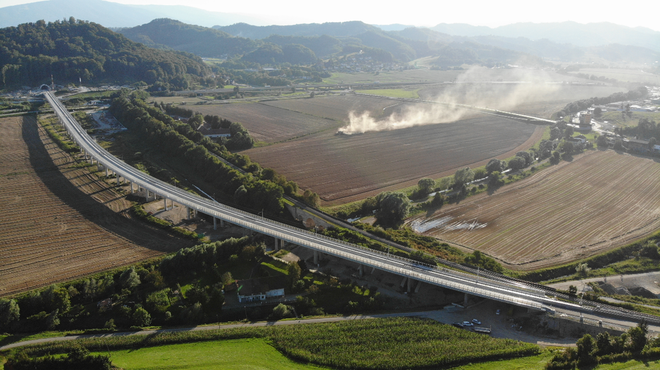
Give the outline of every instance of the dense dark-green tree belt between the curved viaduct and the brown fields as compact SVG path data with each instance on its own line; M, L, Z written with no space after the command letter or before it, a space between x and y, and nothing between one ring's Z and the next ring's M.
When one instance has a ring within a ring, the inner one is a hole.
M201 174L219 193L233 199L235 205L283 216L284 194L308 203L318 200L318 196L315 198L309 190L299 196L294 181L287 181L272 169L262 169L246 155L229 152L224 145L213 142L185 123L175 121L138 97L116 97L110 112L127 128L137 132L147 145L171 158L185 160L191 170ZM230 167L220 158L244 172Z

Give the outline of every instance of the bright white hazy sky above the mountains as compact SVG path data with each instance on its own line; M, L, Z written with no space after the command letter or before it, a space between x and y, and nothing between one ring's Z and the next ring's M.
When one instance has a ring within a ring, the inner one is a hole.
M0 0L0 7L39 0ZM400 23L435 26L468 23L497 27L517 22L612 22L660 31L651 0L606 2L593 0L109 0L123 4L186 5L222 13L245 13L267 24L322 23L359 20L369 24ZM392 4L392 5L390 5Z

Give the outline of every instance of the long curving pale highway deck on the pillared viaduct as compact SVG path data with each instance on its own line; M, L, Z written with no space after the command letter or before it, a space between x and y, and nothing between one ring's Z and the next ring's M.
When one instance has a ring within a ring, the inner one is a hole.
M383 252L367 249L358 245L349 244L332 239L324 235L302 230L276 221L253 215L212 200L199 197L183 189L151 177L136 168L122 162L99 146L62 106L51 92L44 93L47 101L53 106L71 138L79 145L85 155L98 161L101 165L114 171L118 176L125 178L163 198L187 206L198 212L232 224L271 236L280 240L300 245L312 250L339 257L359 265L363 268L372 267L387 271L419 282L440 286L443 288L493 299L500 302L527 307L539 311L554 312L555 308L570 310L572 312L593 313L595 307L585 307L572 302L557 300L546 295L546 291L531 285L509 282L503 279L492 279L488 276L472 275L464 272L449 270L438 266L425 265L410 259L393 256ZM599 307L600 312L622 315L623 311L607 307ZM647 318L647 320L651 320ZM659 320L660 322L660 320Z

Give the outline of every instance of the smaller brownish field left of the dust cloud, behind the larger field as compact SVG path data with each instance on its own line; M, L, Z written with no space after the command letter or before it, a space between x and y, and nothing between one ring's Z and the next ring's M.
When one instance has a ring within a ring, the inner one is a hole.
M240 122L255 140L267 143L304 136L340 125L340 122L332 119L300 114L262 103L199 105L191 109L204 115L217 115L232 122Z

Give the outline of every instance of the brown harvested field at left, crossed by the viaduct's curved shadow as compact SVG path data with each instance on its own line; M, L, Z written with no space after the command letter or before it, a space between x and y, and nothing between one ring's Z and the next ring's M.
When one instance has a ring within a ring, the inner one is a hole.
M32 117L0 119L0 296L190 245L121 213L130 204Z

